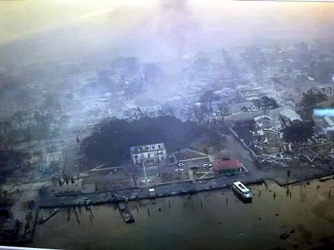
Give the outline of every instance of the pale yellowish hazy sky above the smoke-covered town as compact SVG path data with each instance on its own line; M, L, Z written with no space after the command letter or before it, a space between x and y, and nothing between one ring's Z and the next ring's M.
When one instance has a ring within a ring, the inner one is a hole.
M168 56L217 44L332 39L333 13L334 3L0 0L0 43L18 43L22 58Z

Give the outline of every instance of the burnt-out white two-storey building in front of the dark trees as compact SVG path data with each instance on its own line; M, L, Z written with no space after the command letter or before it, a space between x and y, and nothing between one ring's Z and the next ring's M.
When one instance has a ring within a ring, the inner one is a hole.
M167 151L163 142L148 144L143 146L131 147L131 158L134 164L143 163L152 164L159 161L164 161L167 158Z

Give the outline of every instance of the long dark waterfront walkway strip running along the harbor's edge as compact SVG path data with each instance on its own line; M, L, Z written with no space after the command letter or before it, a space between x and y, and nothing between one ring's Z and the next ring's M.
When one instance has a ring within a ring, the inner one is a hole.
M90 200L90 204L97 205L102 203L118 203L120 201L168 197L180 194L194 194L196 192L230 188L233 181L243 181L246 185L260 184L264 181L276 181L278 185L289 185L292 183L310 181L315 178L321 178L322 176L330 176L331 174L333 173L315 171L308 174L304 173L303 176L294 174L287 178L285 172L276 172L276 178L269 178L271 175L268 172L266 176L262 174L252 176L249 173L245 173L235 176L219 176L217 178L203 179L201 181L196 181L196 183L193 183L193 181L182 181L179 183L153 185L145 188L123 188L103 192L91 192L88 194L77 193L57 195L56 197L42 197L40 199L40 207L84 206L86 200ZM329 178L333 177L330 176ZM149 188L154 188L154 195L150 194Z

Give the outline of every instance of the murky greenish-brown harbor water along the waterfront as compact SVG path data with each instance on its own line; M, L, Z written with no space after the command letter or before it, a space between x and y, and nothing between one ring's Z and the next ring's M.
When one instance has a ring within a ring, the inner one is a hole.
M334 234L334 181L250 187L252 203L231 190L129 202L125 224L111 204L61 208L38 225L32 247L54 249L312 249ZM332 190L332 191L331 191ZM333 193L333 195L331 195ZM48 213L41 210L40 214ZM282 235L285 234L285 237ZM283 239L285 238L285 239Z

